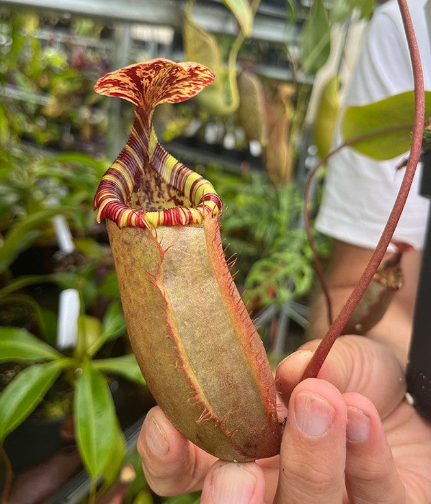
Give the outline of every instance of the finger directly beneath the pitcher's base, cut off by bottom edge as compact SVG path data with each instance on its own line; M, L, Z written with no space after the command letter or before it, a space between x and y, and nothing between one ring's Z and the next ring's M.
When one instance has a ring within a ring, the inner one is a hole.
M200 504L263 504L265 480L254 462L216 462L209 470Z

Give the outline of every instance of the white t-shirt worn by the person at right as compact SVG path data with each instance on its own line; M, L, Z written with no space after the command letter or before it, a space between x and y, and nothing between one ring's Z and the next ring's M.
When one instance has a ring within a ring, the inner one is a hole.
M431 1L431 0L429 0ZM426 90L431 90L431 49L423 6L426 0L409 0L408 6L421 52ZM413 90L413 73L400 10L389 0L374 13L363 39L343 107L365 105L390 95ZM340 117L342 116L342 111ZM341 143L339 131L334 145ZM404 175L395 168L406 155L376 161L344 147L328 161L328 173L316 228L344 242L374 249L387 223ZM394 238L423 248L428 199L419 195L418 166Z

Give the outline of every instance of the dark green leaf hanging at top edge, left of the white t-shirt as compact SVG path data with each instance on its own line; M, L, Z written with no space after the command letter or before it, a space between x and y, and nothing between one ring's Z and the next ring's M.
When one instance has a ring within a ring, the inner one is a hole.
M302 67L316 73L329 58L330 25L322 0L314 0L301 33Z

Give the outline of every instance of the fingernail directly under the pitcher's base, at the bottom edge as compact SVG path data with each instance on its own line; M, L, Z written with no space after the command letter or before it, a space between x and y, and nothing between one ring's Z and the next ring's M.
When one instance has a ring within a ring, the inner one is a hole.
M239 464L224 464L213 472L213 504L248 504L254 493L256 477Z

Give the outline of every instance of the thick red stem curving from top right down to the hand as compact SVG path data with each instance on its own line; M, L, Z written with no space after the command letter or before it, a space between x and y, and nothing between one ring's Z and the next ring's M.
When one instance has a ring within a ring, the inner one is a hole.
M423 86L421 59L419 48L417 46L415 30L413 29L413 23L410 18L410 12L408 10L406 0L397 1L400 7L404 30L406 31L408 49L410 51L410 59L413 66L413 80L415 90L415 122L413 125L413 138L410 149L410 156L408 157L406 171L402 179L400 190L397 194L397 199L395 200L393 209L391 211L391 214L389 215L387 224L384 227L377 247L373 255L371 255L371 259L369 260L369 263L367 264L361 278L359 279L358 283L356 283L356 286L350 294L348 301L346 301L341 312L339 313L337 318L335 318L324 339L322 340L322 342L320 342L315 353L313 354L309 365L304 371L304 375L302 375L302 379L317 376L317 373L319 373L319 370L322 367L322 364L324 363L326 355L328 355L332 344L334 344L344 326L346 325L346 323L348 323L348 320L352 315L356 305L363 296L367 286L369 285L369 282L374 276L374 273L376 273L376 270L384 256L384 253L386 252L387 247L391 242L393 232L395 231L395 227L397 226L398 220L400 219L402 210L404 209L408 192L415 175L416 166L421 155L423 123L425 116L425 90Z

